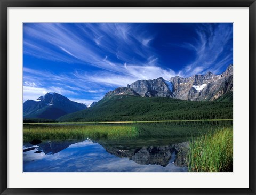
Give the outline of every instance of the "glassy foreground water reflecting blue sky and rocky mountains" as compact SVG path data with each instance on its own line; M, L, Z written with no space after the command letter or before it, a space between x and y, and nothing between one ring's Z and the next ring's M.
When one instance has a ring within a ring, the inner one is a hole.
M174 145L134 147L90 139L25 143L23 172L187 172L174 165L175 153Z

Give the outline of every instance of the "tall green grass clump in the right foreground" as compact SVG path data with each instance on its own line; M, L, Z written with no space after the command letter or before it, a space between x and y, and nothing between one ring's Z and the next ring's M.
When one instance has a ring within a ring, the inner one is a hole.
M191 140L189 172L233 172L233 129L225 127Z

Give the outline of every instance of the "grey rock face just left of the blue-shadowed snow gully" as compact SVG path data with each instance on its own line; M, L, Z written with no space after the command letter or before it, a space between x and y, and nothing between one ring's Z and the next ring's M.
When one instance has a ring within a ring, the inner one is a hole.
M162 77L153 80L137 80L127 87L141 97L172 97L172 92Z

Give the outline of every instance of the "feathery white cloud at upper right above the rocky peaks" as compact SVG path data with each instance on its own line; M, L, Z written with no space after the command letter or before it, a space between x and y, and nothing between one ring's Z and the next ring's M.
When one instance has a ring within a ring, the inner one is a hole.
M193 43L182 43L181 47L190 48L196 52L196 58L178 73L179 76L205 74L207 71L218 72L227 67L233 60L233 53L225 52L233 49L233 27L222 23L201 24L196 29L197 39ZM230 47L231 48L226 48Z

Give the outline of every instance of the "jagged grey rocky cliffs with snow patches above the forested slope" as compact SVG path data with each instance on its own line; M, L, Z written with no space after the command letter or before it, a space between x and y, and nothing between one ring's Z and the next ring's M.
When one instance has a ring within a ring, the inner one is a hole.
M110 91L105 97L114 95L134 95L141 97L172 97L190 101L213 101L233 91L233 64L220 75L207 72L205 75L194 75L188 78L162 77L153 80L137 80L127 87Z

